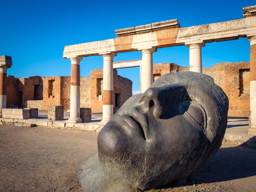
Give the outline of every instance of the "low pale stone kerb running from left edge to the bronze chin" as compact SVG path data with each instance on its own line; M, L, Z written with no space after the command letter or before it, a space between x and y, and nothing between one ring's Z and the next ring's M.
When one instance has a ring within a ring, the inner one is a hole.
M9 119L0 118L0 124L15 125L15 126L39 126L51 129L75 129L89 132L100 132L104 125L98 123L67 123L60 121L47 121L40 119Z

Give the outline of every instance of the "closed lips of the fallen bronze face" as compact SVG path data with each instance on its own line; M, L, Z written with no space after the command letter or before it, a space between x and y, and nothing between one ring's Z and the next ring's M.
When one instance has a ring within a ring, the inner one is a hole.
M147 119L142 114L120 114L122 120L124 120L132 130L141 131L144 139L148 139L148 124Z

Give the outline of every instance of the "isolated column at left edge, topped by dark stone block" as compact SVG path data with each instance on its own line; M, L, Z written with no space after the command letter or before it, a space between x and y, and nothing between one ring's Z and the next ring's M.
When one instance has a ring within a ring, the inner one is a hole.
M7 68L12 66L12 57L0 56L0 117L2 109L6 108L6 86L7 86Z

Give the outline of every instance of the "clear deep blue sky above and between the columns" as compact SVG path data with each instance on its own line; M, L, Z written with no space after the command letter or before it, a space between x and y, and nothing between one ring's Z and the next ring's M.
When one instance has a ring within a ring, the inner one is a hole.
M70 76L70 60L62 58L65 45L115 38L115 29L178 19L181 27L243 18L246 1L1 1L0 55L12 56L8 75ZM114 61L141 59L141 52L119 53ZM208 43L202 48L203 67L228 61L249 61L246 38ZM158 49L154 63L189 66L186 46ZM86 57L81 76L103 67L102 56ZM118 69L118 75L140 89L139 68Z

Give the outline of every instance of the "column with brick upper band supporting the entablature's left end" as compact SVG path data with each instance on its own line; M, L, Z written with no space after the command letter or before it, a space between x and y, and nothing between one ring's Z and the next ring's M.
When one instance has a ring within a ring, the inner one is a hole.
M80 123L80 65L83 58L76 56L71 60L71 77L70 77L70 118L67 122Z

